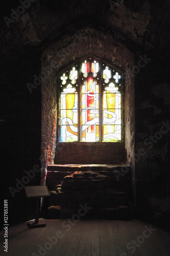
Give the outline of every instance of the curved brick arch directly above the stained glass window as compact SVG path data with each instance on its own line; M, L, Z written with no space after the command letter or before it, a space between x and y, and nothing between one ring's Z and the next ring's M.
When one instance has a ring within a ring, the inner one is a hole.
M47 58L47 65L55 63L52 65L54 69L60 70L89 54L105 58L124 70L127 65L131 67L133 64L133 54L124 44L107 33L90 28L77 30L74 35L65 35L44 51L43 57Z

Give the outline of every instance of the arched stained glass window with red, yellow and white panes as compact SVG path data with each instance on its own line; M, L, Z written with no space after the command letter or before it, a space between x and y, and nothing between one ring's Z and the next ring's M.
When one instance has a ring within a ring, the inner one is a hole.
M122 73L89 57L59 75L60 142L122 141Z

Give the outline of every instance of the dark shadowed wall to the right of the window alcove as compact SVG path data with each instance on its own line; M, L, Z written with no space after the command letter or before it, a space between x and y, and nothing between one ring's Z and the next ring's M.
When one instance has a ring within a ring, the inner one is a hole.
M170 223L169 56L166 51L162 56L151 51L147 58L135 77L137 211L166 226Z

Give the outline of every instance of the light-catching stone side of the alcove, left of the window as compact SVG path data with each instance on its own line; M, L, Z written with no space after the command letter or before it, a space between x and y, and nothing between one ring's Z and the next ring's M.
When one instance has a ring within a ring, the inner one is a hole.
M56 77L42 62L41 115L41 184L44 185L48 164L54 160L56 147L57 92Z

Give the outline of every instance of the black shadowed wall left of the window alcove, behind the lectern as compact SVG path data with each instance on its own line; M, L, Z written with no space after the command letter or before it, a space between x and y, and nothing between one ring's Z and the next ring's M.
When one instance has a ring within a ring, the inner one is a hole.
M23 186L40 184L41 92L27 83L34 84L40 67L34 51L4 56L1 62L1 187L9 223L34 217L34 202L27 200Z

